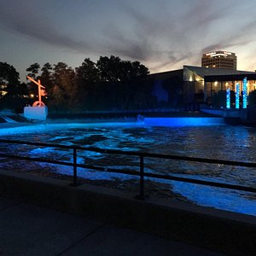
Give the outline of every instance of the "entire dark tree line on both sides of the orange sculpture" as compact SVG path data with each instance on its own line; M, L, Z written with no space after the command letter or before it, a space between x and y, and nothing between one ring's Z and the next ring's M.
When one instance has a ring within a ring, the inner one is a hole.
M26 69L32 79L45 86L43 102L52 112L86 110L132 110L152 108L153 84L148 84L148 67L139 61L124 61L118 56L101 56L98 61L85 58L81 66L38 62ZM27 80L21 83L15 67L0 62L0 109L20 112L37 100L38 86Z

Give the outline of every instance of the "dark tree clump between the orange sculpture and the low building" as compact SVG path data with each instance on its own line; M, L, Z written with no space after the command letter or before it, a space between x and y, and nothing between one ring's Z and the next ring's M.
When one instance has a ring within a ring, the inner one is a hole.
M36 62L26 69L33 79L46 87L49 111L113 110L146 108L148 88L139 88L148 67L139 61L123 61L117 56L100 57L96 63L85 58L81 66L67 67L59 62ZM139 82L138 82L139 81ZM31 84L34 94L37 86ZM45 100L45 99L44 99Z

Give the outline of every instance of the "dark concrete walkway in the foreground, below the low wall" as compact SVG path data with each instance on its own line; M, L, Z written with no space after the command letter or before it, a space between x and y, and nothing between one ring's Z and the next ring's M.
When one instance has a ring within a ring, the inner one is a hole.
M220 255L0 197L0 255Z

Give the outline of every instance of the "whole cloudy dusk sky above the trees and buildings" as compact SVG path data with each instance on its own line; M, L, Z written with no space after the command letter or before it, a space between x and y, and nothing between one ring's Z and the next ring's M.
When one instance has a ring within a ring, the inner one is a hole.
M119 56L150 73L201 66L213 50L235 52L237 69L256 69L256 1L0 0L0 61L20 80L38 62L79 67Z

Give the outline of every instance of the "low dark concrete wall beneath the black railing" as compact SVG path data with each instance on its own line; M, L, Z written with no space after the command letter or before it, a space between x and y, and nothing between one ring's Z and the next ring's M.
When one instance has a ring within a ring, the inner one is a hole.
M176 200L135 199L131 193L0 171L0 195L62 212L185 241L231 255L256 255L256 218ZM170 252L171 253L171 252Z

